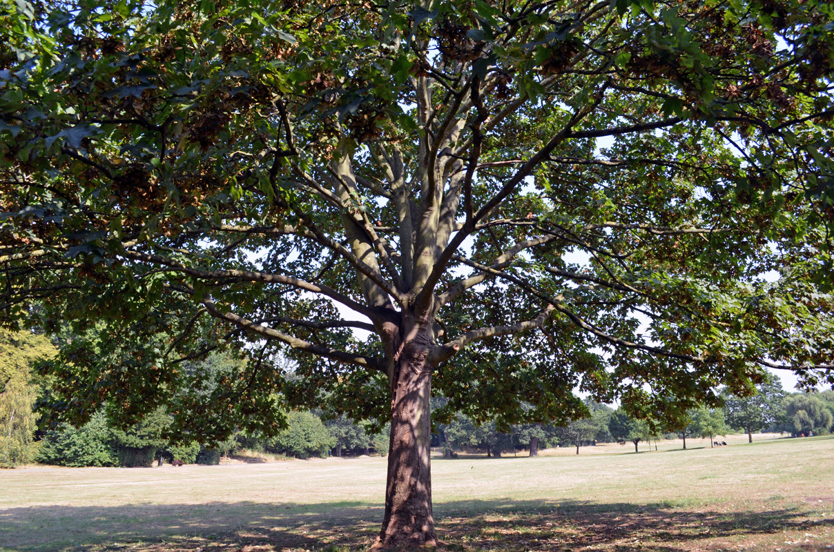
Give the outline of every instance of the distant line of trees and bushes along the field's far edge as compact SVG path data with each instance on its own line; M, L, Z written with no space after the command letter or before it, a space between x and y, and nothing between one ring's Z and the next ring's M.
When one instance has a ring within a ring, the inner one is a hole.
M72 341L67 340L67 343ZM60 347L65 344L58 343ZM107 409L93 413L86 424L43 427L39 403L48 404L50 382L39 364L55 362L58 349L43 336L31 332L0 330L0 467L33 461L66 466L147 466L154 461L180 460L184 464L217 464L222 455L239 449L283 454L306 459L330 454L387 454L387 427L350 419L345 414L289 411L284 427L267 435L235 432L229 439L198 439L173 433L171 414L162 409L142 413L135 424L114 424ZM205 381L222 379L239 362L229 354L212 354L183 369ZM209 400L210 386L203 390ZM199 397L198 397L199 399ZM432 445L445 458L459 452L500 457L553 446L575 447L596 443L651 446L668 437L708 438L733 431L752 434L761 430L791 436L822 435L834 430L834 391L786 394L774 382L764 382L746 393L721 394L723 408L700 406L675 415L640 418L623 409L585 400L585 417L563 424L508 424L504 420L479 420L453 413L435 423ZM445 404L432 399L433 409Z

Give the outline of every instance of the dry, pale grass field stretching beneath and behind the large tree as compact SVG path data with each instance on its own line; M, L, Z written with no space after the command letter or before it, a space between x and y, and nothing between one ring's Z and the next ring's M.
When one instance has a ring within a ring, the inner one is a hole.
M726 440L435 459L438 536L460 551L834 549L834 438ZM380 458L5 470L0 550L362 549L384 477Z

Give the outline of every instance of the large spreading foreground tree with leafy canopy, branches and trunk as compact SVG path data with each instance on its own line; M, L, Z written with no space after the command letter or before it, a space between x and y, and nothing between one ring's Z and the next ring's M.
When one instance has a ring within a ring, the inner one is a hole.
M388 418L377 545L410 546L433 386L564 423L574 389L659 416L831 369L816 0L0 7L3 316L103 327L63 416Z

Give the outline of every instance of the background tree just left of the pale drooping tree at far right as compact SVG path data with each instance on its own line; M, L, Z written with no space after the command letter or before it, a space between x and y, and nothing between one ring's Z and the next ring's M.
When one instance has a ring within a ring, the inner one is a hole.
M776 423L783 412L782 399L785 391L778 381L765 381L748 389L746 396L727 394L724 399L724 414L727 424L747 434L747 441L753 442L753 432Z

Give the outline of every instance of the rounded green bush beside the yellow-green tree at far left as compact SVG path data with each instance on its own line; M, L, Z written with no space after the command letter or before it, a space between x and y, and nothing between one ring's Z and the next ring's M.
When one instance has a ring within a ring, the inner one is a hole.
M73 468L112 466L118 463L118 456L110 439L107 418L102 413L94 414L80 429L61 424L43 438L38 461Z

